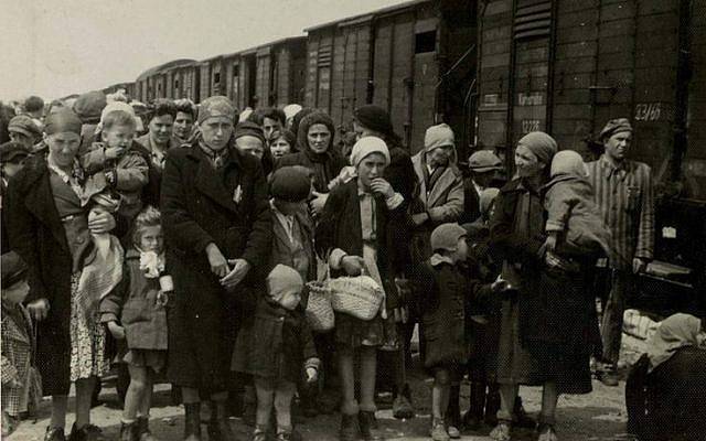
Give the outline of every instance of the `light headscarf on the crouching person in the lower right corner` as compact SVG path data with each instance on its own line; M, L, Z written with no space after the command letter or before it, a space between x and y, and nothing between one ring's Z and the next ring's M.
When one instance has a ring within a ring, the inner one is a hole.
M697 346L702 321L689 314L674 314L662 321L656 332L648 340L648 357L654 370L668 361L677 349L685 346Z

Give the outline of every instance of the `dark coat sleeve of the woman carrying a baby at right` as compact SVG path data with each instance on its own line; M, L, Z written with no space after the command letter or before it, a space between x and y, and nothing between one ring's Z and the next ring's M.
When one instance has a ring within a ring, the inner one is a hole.
M495 212L490 222L490 246L496 260L533 261L544 244L541 235L523 237L514 232L516 197L501 192L495 202Z

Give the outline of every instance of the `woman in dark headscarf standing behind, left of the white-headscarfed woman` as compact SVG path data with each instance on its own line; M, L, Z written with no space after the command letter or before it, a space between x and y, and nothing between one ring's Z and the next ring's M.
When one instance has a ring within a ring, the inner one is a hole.
M323 209L329 195L329 183L346 165L345 159L333 148L334 133L333 121L327 114L313 111L307 115L297 132L297 141L302 150L281 158L276 164L276 169L303 165L312 171L314 197L310 206L314 215L319 215Z

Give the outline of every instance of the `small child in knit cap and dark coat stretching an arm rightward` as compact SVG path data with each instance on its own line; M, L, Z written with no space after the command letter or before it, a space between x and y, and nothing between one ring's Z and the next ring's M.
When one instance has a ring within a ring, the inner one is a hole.
M415 271L427 343L425 368L434 375L430 434L435 441L460 438L458 428L446 421L446 413L451 387L460 381L468 359L467 305L504 288L503 280L486 286L469 280L461 268L468 259L466 237L466 229L458 224L439 225L430 238L434 255Z

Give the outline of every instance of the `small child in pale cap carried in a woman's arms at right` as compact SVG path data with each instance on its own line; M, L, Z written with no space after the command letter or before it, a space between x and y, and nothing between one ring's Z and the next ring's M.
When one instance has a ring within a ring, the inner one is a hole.
M608 256L610 232L593 202L593 189L586 179L588 172L581 155L573 150L556 153L550 175L544 198L547 261L563 261L553 258L555 251L561 257L585 256L586 251Z

